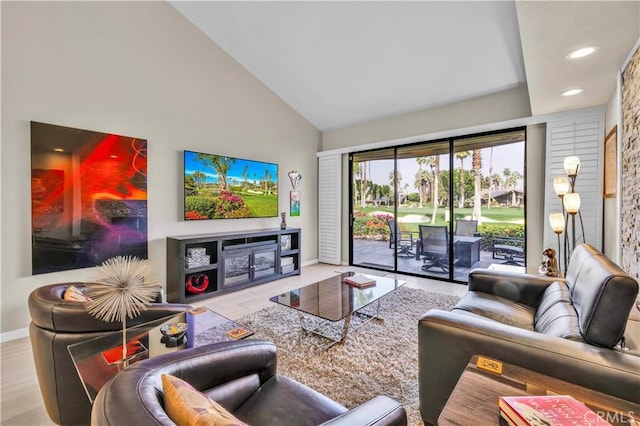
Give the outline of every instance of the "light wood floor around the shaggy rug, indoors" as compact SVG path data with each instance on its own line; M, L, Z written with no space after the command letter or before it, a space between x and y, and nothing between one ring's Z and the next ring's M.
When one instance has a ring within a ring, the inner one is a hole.
M272 305L269 297L335 275L336 271L366 269L347 266L315 264L302 269L302 274L263 284L250 289L214 297L194 303L207 306L220 314L238 319L243 315ZM380 271L371 271L375 275L394 276ZM422 288L437 293L462 296L467 291L465 285L429 280L403 275L397 278L407 282L407 286ZM31 345L28 338L2 343L0 372L2 387L0 392L0 424L13 425L51 425L53 424L44 409L40 389L36 380Z

